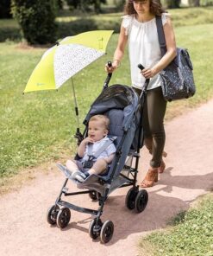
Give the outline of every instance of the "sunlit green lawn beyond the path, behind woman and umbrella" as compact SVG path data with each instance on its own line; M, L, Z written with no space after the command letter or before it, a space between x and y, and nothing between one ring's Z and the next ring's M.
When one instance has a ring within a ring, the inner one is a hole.
M177 44L189 49L194 65L197 94L192 99L168 104L166 119L173 118L185 108L204 103L213 95L212 38L213 25L200 24L175 28ZM117 35L108 45L108 54L92 63L73 78L76 86L80 123L97 95L106 74L103 66L112 59ZM35 65L46 48L23 48L13 42L0 43L0 177L11 176L28 166L63 153L72 154L76 148L73 135L76 118L71 81L56 91L27 93L22 91ZM128 53L122 66L113 74L110 84L130 84Z

